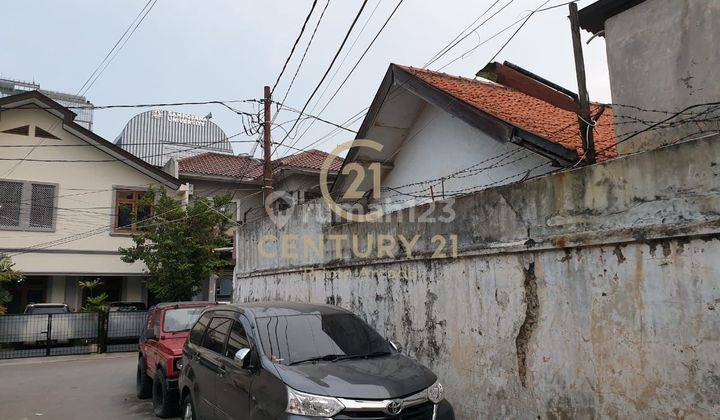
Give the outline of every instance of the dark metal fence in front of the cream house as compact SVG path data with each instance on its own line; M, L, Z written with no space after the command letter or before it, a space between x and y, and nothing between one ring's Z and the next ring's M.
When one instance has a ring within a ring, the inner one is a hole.
M134 351L146 311L0 316L0 359Z

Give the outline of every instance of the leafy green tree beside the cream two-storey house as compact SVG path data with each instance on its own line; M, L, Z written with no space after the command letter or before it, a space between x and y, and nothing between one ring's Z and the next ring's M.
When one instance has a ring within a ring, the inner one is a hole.
M227 246L232 219L224 209L229 203L229 196L201 197L182 206L164 189L148 191L140 209L152 216L136 221L134 245L120 248L122 260L145 263L148 289L159 300L191 299L203 280L227 265L215 249Z

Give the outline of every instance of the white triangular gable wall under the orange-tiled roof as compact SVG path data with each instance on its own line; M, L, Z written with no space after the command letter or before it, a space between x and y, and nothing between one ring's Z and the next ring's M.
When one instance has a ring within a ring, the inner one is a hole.
M500 157L480 163L496 156ZM483 186L503 185L520 180L528 170L546 161L548 159L520 146L496 141L464 121L428 105L395 155L393 169L382 179L381 199L389 203L386 210L409 207L413 204L413 197L387 191L385 188L397 188L406 194L430 195L429 183L401 187L435 180L476 165L473 167L476 173L467 172L462 177L450 178L444 182L445 191L448 193L463 189L468 189L466 192L469 193ZM547 173L551 169L552 166L547 165L536 169L531 175ZM435 182L433 193L436 199L442 198L441 190L440 182ZM416 202L426 201L429 199L418 199Z

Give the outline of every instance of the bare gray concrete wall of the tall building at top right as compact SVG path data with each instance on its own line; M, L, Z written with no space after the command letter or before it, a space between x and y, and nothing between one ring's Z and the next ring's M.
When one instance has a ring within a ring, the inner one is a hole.
M662 111L717 102L719 24L716 0L647 0L608 19L605 40L613 102ZM621 139L646 127L633 123L635 119L668 117L622 106L614 106L613 111ZM662 135L643 134L620 143L618 153L654 148L708 128L716 130L717 124L683 124L661 130Z

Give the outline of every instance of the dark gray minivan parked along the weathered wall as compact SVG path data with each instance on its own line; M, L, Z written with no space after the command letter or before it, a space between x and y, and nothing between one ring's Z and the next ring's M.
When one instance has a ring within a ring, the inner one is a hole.
M331 305L206 309L183 348L179 388L189 420L454 419L435 374Z

